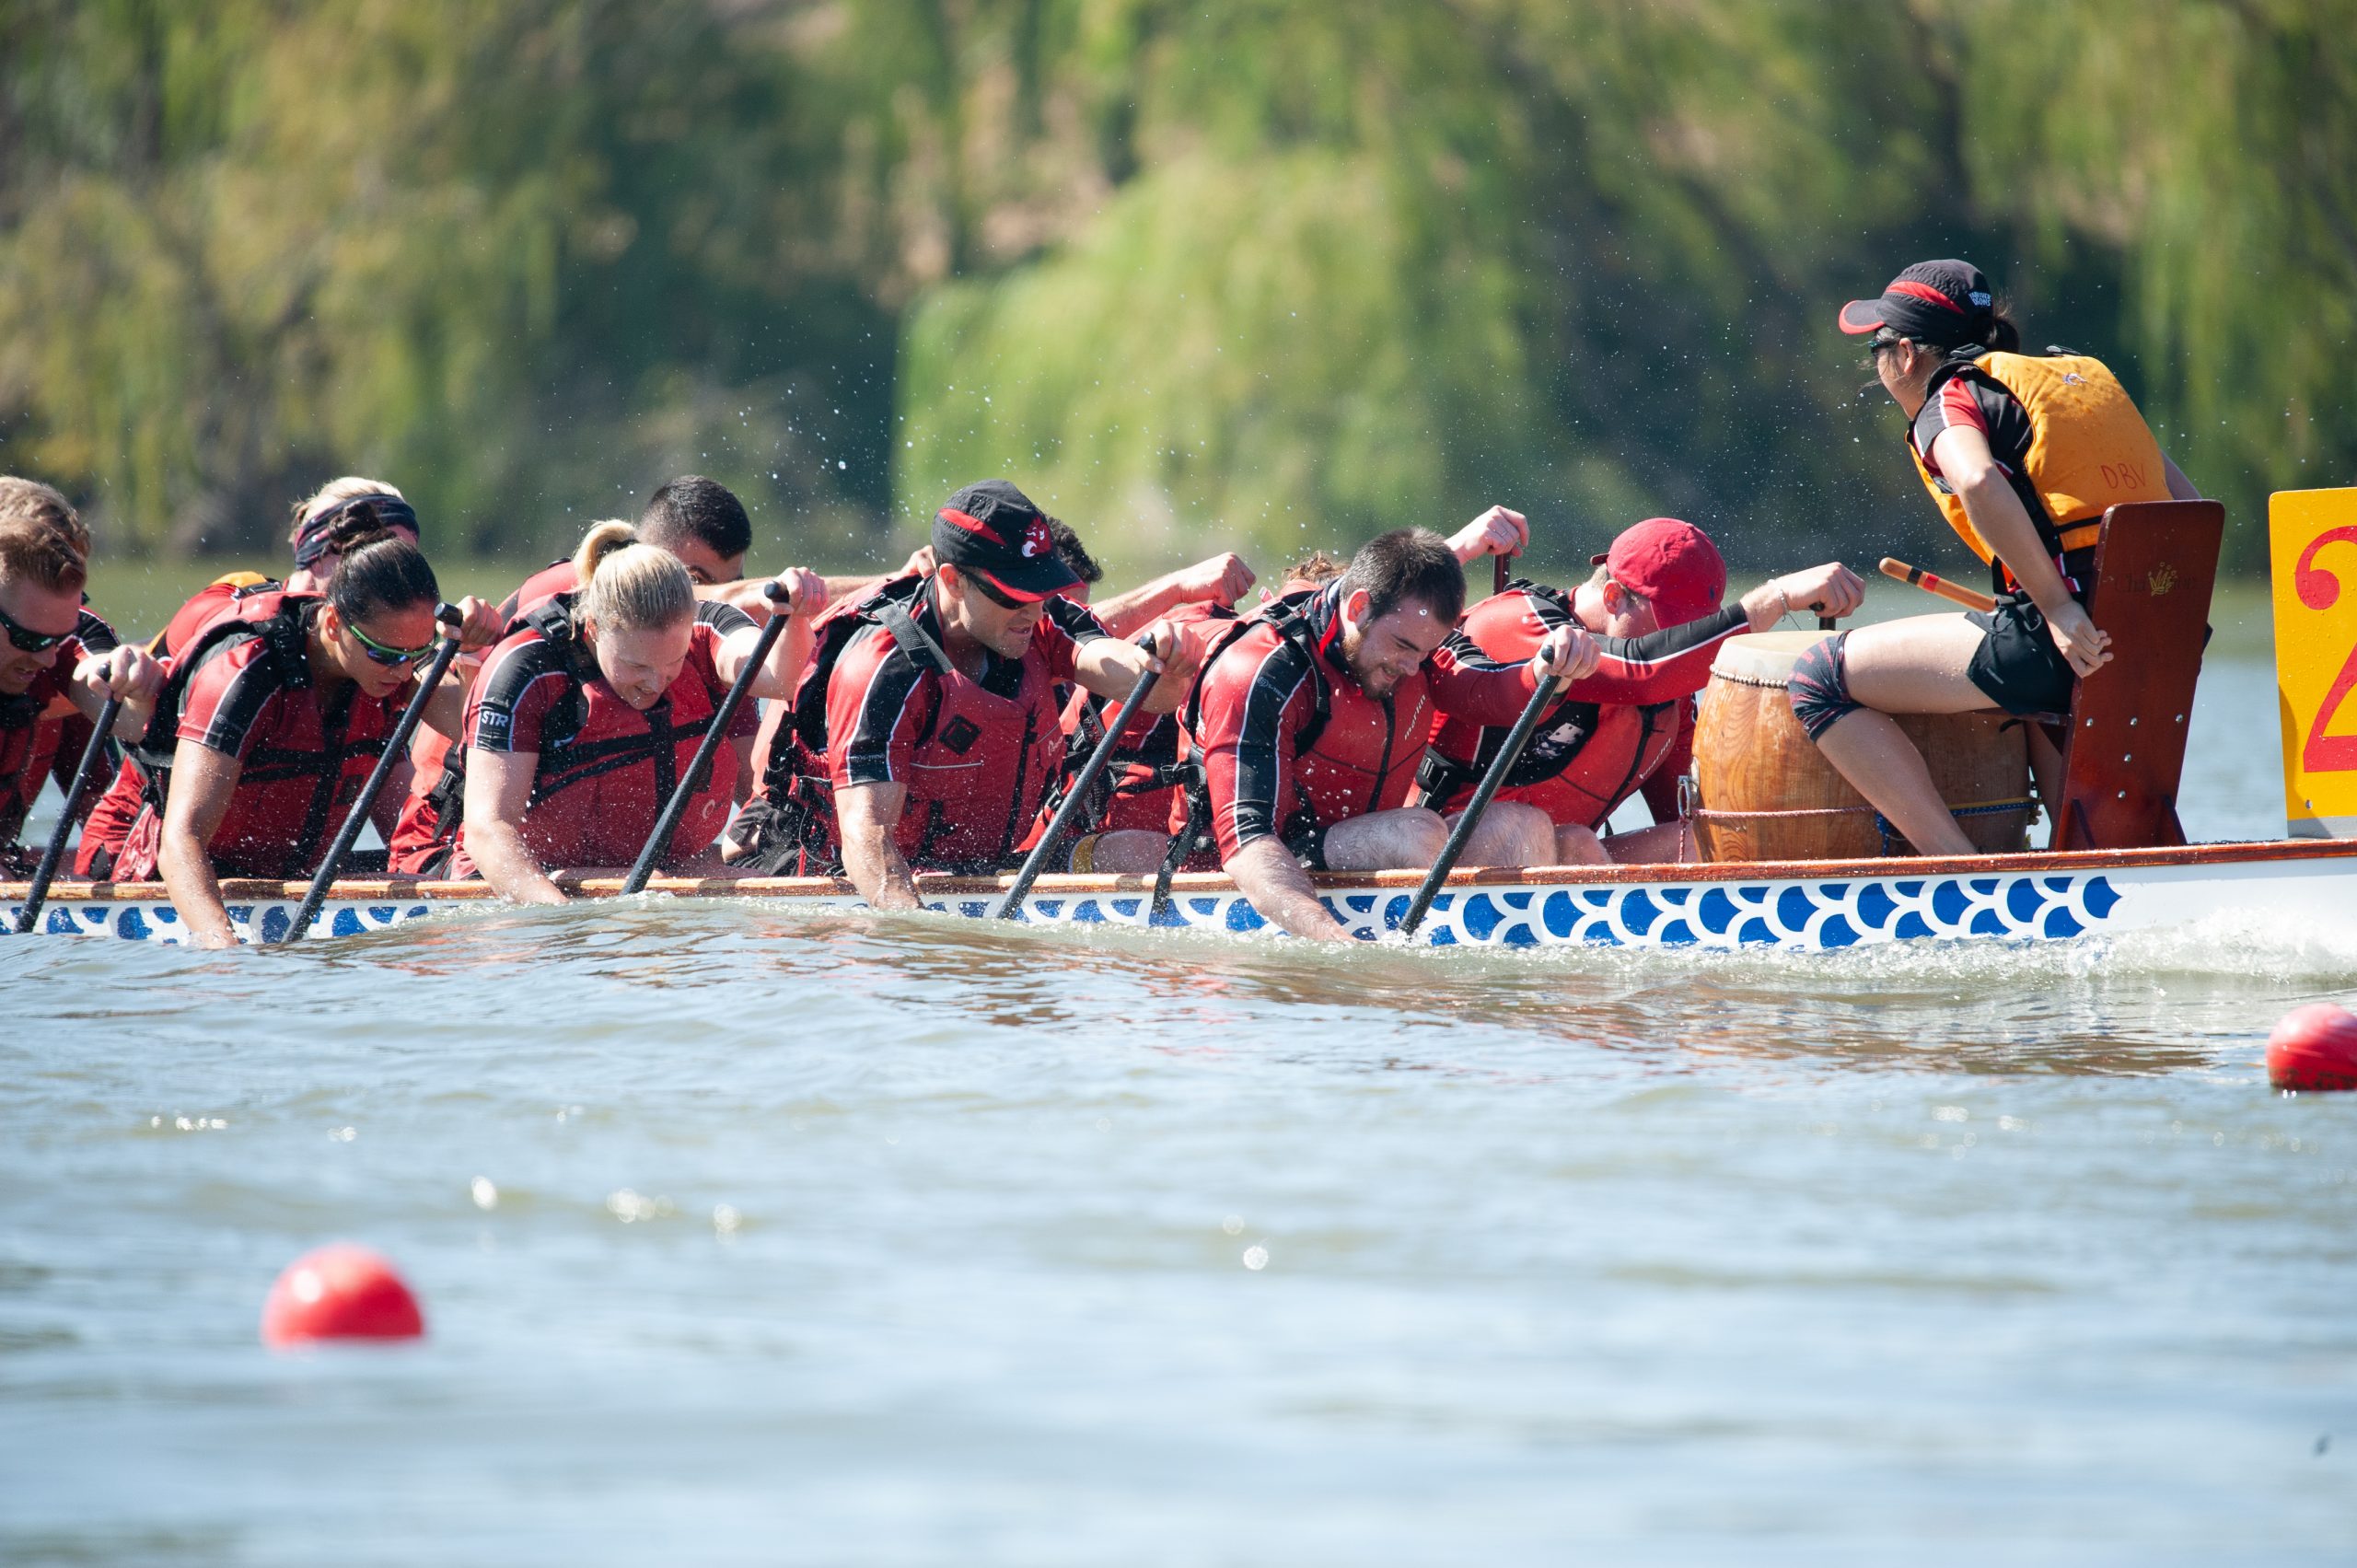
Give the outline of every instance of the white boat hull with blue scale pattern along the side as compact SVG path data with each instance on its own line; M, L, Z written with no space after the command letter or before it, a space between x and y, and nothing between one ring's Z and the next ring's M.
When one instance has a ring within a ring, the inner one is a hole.
M563 877L580 894L618 889L613 877ZM1417 887L1412 872L1320 877L1325 905L1353 936L1398 929ZM302 903L302 884L231 882L231 922L245 941L278 941ZM858 910L844 882L811 877L658 879L655 896L773 901L801 910ZM0 931L14 931L24 884L0 884ZM924 877L926 905L973 920L997 908L988 879ZM464 882L344 882L309 938L389 931L441 913L495 903ZM1433 901L1414 941L1454 948L1803 948L1836 950L1893 941L2074 941L2150 931L2213 915L2357 913L2357 844L2194 844L2152 851L1978 856L1968 861L1838 861L1777 865L1629 865L1553 872L1459 872ZM1178 877L1169 908L1153 913L1143 877L1042 877L1023 903L1025 924L1103 924L1268 934L1259 910L1216 875ZM186 941L160 887L59 884L40 917L49 936Z

